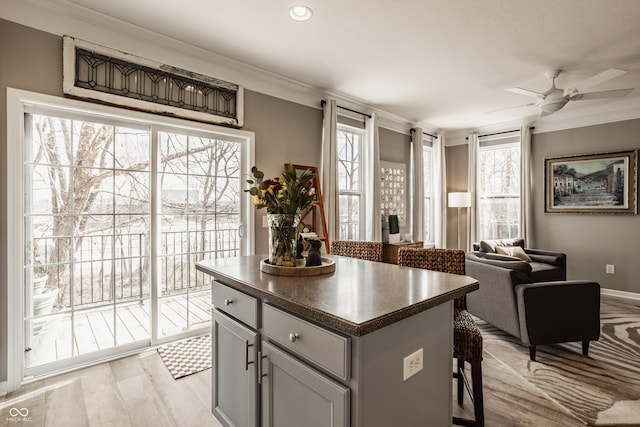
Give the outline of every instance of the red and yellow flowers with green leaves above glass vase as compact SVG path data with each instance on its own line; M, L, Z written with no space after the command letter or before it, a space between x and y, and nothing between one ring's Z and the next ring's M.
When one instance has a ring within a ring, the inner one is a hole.
M313 179L316 177L310 170L298 176L293 164L282 171L282 176L264 179L264 172L256 166L251 168L253 179L247 182L252 185L247 190L251 194L251 202L257 209L266 208L271 214L301 213L316 199Z

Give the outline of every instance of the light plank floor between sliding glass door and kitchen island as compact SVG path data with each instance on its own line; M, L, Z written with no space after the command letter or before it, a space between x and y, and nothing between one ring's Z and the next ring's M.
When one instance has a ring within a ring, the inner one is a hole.
M211 370L174 380L155 350L24 385L0 398L0 426L221 427ZM27 408L16 421L11 408Z

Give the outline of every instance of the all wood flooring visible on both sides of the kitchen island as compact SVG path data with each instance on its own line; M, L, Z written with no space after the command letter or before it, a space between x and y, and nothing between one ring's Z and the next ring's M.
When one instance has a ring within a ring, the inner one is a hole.
M637 304L629 310L637 312ZM523 347L523 352L528 350ZM492 357L482 363L485 420L498 426L581 426L561 406ZM0 397L0 426L214 426L211 370L174 380L155 350L41 380ZM30 421L11 420L27 408ZM472 417L472 405L454 415ZM14 410L15 413L15 410ZM436 426L437 427L437 426Z

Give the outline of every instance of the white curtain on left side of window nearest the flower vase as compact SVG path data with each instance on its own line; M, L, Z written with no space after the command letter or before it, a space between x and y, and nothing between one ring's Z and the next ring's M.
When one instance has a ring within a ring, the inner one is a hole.
M322 162L320 182L322 183L322 203L327 220L329 240L339 236L340 214L338 208L338 125L336 100L328 99L322 111Z

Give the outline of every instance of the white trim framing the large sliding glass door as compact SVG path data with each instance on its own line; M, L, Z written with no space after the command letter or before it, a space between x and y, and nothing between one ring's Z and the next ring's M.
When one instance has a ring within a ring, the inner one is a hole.
M70 113L86 115L87 112L111 117L116 120L138 122L144 125L158 127L171 126L190 132L215 133L229 137L232 140L241 140L246 144L242 150L241 175L250 175L251 167L255 163L255 134L249 131L230 129L211 124L192 122L183 119L163 117L149 113L130 111L122 108L87 103L84 101L61 98L52 95L44 95L14 88L7 88L7 391L20 387L24 377L24 295L23 289L23 265L24 265L24 233L23 233L23 142L25 107L41 106L66 110ZM153 179L153 178L152 178ZM240 232L241 254L253 255L255 253L254 241L254 210L250 203L248 193L243 197L245 203L241 205L242 225ZM152 232L154 232L152 230ZM153 254L155 255L155 254ZM17 302L17 303L15 303ZM135 349L131 349L135 351ZM125 349L126 351L126 349ZM121 354L118 352L118 354ZM114 353L115 356L115 353Z

